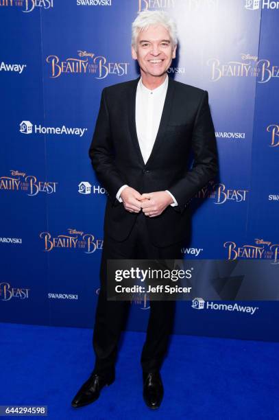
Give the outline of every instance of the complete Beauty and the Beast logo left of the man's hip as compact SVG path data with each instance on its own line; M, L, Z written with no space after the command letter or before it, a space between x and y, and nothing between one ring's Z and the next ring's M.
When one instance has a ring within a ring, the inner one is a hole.
M95 253L95 250L102 249L103 240L96 239L91 233L84 233L76 229L67 229L65 235L52 236L49 232L40 232L40 238L45 244L45 251L49 252L54 248L82 249L86 254Z

